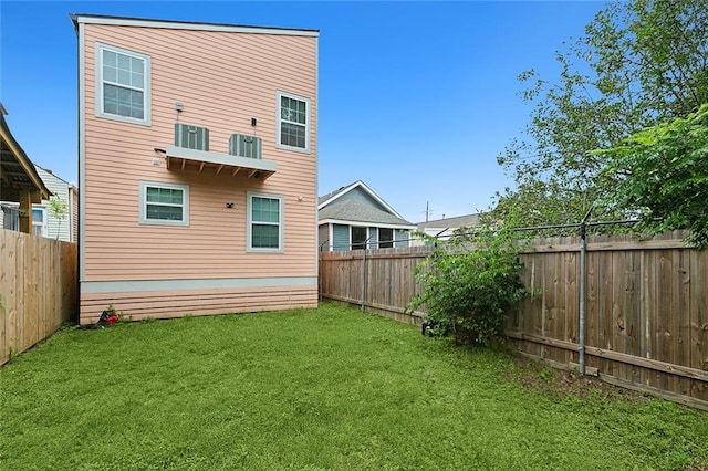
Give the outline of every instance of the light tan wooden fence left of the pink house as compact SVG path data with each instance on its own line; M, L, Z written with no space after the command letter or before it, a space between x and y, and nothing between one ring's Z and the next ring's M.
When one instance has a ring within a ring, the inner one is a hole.
M0 365L77 310L76 244L0 229Z

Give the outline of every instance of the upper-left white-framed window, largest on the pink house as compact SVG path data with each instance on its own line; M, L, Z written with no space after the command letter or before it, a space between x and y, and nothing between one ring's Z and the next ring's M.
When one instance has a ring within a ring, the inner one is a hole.
M150 57L96 43L96 115L150 124Z

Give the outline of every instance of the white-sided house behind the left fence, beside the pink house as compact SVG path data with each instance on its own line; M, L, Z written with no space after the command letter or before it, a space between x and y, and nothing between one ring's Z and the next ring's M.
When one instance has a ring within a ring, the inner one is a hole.
M34 236L59 239L65 242L76 242L79 232L79 192L76 187L62 180L52 170L34 166L37 174L46 188L52 192L51 198L65 205L66 213L59 218L50 205L49 199L42 199L32 205L32 233ZM18 202L0 201L0 226L4 229L19 230L20 209Z

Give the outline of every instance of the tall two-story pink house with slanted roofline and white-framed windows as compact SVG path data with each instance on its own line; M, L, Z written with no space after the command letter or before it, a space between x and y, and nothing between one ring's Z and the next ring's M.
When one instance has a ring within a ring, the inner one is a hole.
M81 323L316 306L319 32L72 20Z

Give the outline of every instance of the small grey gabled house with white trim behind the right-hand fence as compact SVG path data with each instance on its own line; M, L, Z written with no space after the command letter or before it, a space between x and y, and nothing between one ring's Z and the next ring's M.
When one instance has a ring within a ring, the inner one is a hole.
M408 247L406 221L363 181L320 197L321 251Z

